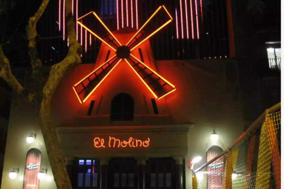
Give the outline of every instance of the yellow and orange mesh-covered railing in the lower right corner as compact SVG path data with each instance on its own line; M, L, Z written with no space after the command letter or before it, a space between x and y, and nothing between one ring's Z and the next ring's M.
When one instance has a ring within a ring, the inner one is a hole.
M267 112L248 136L196 173L197 188L281 189L281 103L271 111L275 107L277 112Z

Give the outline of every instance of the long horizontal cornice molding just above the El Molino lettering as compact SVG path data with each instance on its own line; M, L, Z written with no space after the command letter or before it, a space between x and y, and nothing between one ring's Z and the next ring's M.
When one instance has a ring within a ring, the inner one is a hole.
M188 133L193 124L157 126L96 126L96 127L57 127L59 135L68 134L114 134L114 133Z

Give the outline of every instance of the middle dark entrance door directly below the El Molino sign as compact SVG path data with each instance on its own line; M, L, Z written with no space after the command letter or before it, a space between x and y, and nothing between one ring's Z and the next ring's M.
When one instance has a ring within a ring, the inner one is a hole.
M136 189L138 166L134 158L114 158L109 164L108 188Z

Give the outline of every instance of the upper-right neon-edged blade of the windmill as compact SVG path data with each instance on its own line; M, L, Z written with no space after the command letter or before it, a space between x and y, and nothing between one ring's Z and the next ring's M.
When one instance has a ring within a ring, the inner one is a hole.
M158 20L158 24L157 21ZM158 9L150 16L145 24L135 33L135 35L126 44L130 48L130 51L135 49L141 43L149 39L160 29L172 22L173 18L164 5L158 7Z

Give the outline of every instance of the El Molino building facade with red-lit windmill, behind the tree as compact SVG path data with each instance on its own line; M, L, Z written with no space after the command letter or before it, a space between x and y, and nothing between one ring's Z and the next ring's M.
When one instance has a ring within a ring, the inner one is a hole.
M224 150L241 135L234 2L73 1L74 18L94 14L78 20L83 63L68 71L51 102L73 188L192 188L191 160L202 157L197 168L210 147ZM47 65L68 52L63 5L50 1L43 20L53 22L39 22L43 35L64 37L40 44ZM26 143L30 135L34 142ZM18 98L1 188L56 188L38 115Z

